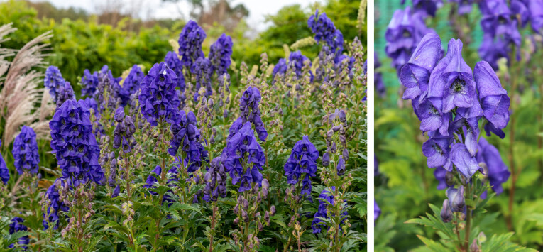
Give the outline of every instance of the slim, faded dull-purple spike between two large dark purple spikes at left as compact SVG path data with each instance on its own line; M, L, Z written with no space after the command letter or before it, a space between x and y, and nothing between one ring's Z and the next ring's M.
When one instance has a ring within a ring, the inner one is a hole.
M124 108L120 107L115 111L114 116L117 126L114 131L113 148L123 146L123 151L129 153L136 145L133 134L136 133L136 126L131 116L124 116Z

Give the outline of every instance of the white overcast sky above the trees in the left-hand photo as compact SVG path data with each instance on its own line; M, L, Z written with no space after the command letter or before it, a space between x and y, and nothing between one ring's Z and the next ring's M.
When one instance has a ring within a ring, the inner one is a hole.
M43 0L31 0L43 1ZM121 2L123 8L138 8L139 18L185 18L189 17L190 6L187 1L180 0L178 3L163 2L161 0L48 0L53 5L60 8L70 6L79 7L94 13L98 6L104 6L106 3ZM300 4L303 8L314 2L323 3L323 0L233 0L231 6L244 4L249 10L248 24L257 31L263 31L268 25L264 23L264 16L274 14L281 7L291 4ZM140 7L137 7L140 6Z

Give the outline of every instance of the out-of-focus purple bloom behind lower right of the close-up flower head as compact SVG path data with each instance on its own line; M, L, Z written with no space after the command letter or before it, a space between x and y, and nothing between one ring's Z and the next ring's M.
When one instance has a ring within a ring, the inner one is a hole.
M478 150L476 160L479 163L486 164L486 167L488 168L487 177L490 181L490 186L492 186L492 190L499 195L503 192L502 184L505 183L510 176L508 166L503 163L498 149L488 143L485 138L479 140ZM486 197L486 192L481 195L481 197Z

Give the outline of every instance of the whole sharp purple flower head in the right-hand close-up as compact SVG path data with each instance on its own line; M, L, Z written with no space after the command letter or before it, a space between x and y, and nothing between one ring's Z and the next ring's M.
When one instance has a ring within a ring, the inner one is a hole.
M478 170L483 172L475 158L478 121L486 119L487 134L503 138L509 97L487 62L478 62L472 74L461 50L462 42L451 39L449 51L441 58L439 35L425 35L401 68L400 82L407 87L403 97L412 99L420 129L428 132L429 139L422 146L428 167L451 172L454 165L469 181Z

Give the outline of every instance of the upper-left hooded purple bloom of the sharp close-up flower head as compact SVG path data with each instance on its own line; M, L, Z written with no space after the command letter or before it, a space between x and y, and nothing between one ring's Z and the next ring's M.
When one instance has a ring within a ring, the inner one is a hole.
M424 35L410 60L400 68L400 82L407 87L403 99L415 99L428 89L430 73L441 60L441 39L437 33Z

